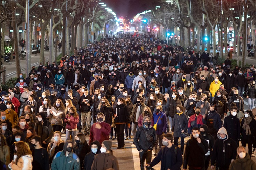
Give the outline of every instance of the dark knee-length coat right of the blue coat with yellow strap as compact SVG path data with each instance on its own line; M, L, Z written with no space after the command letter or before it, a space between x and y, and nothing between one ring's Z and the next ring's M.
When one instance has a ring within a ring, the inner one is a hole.
M180 124L179 124L179 121L180 121ZM172 132L174 133L173 136L174 137L182 137L181 129L186 132L187 128L188 128L187 116L184 113L182 113L180 115L175 114L174 118L172 120Z

